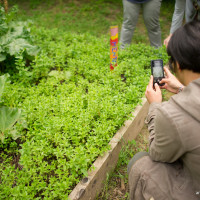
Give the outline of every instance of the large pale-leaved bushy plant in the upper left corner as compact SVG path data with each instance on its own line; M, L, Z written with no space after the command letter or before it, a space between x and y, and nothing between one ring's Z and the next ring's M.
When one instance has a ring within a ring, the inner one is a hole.
M16 14L16 6L8 14L0 6L0 62L4 61L1 65L13 65L19 55L31 60L38 52L32 45L30 22L16 21Z

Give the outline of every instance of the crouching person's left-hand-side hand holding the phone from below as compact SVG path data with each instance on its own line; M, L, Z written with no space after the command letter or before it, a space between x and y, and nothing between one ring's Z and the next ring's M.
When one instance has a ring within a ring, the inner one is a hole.
M145 96L149 104L153 102L162 102L162 93L160 87L157 83L155 83L155 87L153 87L153 76L151 76L149 84L147 85Z

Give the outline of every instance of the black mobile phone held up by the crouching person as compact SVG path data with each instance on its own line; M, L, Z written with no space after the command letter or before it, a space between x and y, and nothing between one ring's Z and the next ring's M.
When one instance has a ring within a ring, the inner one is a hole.
M164 83L159 83L165 77L162 59L151 60L151 74L153 75L153 85L155 83L160 86L165 85Z

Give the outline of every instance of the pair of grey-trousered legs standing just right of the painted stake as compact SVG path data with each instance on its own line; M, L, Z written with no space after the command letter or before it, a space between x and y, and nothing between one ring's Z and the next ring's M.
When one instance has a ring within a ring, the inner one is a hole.
M162 45L160 30L160 7L162 0L123 0L123 24L121 29L121 49L130 45L138 21L140 9L143 9L143 19L148 31L151 46Z

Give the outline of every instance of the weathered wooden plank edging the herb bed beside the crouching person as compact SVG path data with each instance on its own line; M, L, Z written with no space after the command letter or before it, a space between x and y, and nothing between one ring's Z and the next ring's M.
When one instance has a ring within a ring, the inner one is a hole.
M117 164L122 145L136 138L144 126L149 104L145 98L142 104L135 108L132 119L114 135L110 141L111 149L94 162L93 170L88 171L88 177L83 178L69 195L70 200L94 200L100 193L107 173L111 172Z

